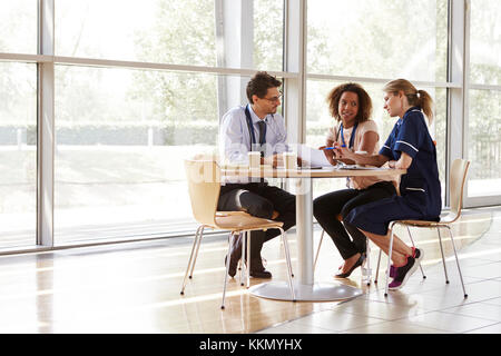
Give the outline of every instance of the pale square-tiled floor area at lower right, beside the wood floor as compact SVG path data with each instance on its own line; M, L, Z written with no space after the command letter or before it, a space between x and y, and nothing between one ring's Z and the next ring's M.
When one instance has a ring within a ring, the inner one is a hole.
M463 298L454 258L448 258L450 284L442 264L423 264L407 285L384 297L384 276L354 299L314 312L258 333L501 333L501 210L475 241L460 250L468 298Z

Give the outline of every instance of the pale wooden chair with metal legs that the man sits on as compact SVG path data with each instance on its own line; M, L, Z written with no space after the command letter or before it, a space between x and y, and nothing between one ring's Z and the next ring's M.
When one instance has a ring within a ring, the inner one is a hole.
M288 287L291 289L292 299L295 300L295 294L292 283L292 264L291 254L288 249L287 238L282 228L283 222L268 219L262 219L250 216L243 211L217 211L217 201L219 199L220 190L220 168L214 159L193 159L185 160L186 177L188 180L189 199L191 202L191 210L195 219L200 224L198 227L195 240L191 247L191 255L189 257L188 266L186 268L185 278L180 294L184 295L187 277L193 277L195 261L198 255L198 249L202 243L204 228L222 229L229 231L228 253L226 260L226 274L223 289L222 309L225 308L226 285L228 280L229 256L232 255L233 238L235 235L243 234L244 240L242 244L243 256L244 248L247 246L247 264L246 278L247 288L249 287L250 273L250 231L279 229L285 250L285 257L288 269ZM243 281L240 273L240 281ZM243 284L242 284L243 285Z

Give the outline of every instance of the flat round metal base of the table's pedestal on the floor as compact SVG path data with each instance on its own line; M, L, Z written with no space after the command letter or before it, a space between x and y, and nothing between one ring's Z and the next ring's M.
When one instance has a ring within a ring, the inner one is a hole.
M249 288L256 297L277 300L292 300L291 289L286 281L269 281ZM294 293L299 301L334 301L356 298L362 290L340 283L315 283L303 285L295 283Z

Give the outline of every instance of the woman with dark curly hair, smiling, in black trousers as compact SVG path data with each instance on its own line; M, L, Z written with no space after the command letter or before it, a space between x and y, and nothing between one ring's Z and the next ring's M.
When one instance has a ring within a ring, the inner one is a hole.
M345 145L352 151L377 154L380 136L376 123L371 120L372 101L362 86L350 82L335 87L327 96L327 103L336 125L328 129L326 146L332 148ZM326 146L321 149L327 148ZM324 152L332 165L337 164L332 149L325 149ZM366 237L344 218L357 206L395 194L395 186L389 178L350 177L347 189L332 191L315 199L313 215L331 236L344 259L335 278L350 277L366 258Z

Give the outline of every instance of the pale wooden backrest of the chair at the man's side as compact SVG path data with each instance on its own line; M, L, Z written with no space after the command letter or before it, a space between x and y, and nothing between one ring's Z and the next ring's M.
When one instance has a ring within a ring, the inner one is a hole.
M215 225L220 190L220 169L214 159L186 159L189 200L199 224Z

